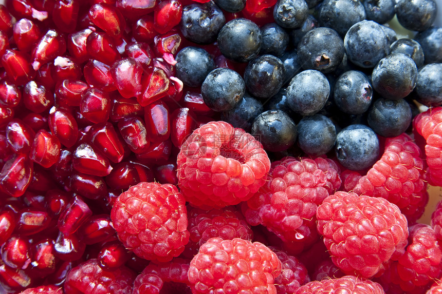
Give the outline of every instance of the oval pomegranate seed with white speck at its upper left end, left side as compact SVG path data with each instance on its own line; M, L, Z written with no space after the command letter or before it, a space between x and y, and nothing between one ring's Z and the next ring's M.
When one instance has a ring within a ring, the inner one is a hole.
M77 142L77 121L68 110L52 107L49 111L48 124L51 133L57 136L63 146L69 148Z

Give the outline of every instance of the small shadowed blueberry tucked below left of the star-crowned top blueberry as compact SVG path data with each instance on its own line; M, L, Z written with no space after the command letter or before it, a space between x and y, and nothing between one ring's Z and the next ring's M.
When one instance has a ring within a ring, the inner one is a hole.
M275 23L261 27L261 54L281 55L288 45L288 33Z

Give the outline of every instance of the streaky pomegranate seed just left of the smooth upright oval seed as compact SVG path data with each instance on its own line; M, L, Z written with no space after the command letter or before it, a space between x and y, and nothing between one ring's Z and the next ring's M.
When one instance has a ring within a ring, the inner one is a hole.
M140 117L129 117L118 122L123 140L134 153L143 153L149 148L149 134Z

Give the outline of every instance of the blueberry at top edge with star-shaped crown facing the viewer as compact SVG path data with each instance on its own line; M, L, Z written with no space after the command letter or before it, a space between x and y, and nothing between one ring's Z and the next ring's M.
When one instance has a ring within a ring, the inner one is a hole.
M273 18L283 28L299 28L308 16L304 0L278 0L273 8Z

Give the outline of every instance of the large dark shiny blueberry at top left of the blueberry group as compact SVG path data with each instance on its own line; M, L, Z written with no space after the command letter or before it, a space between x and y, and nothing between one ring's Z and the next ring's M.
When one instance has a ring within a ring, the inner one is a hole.
M190 41L210 44L216 41L216 36L225 23L223 11L210 1L183 7L179 27L182 35Z

